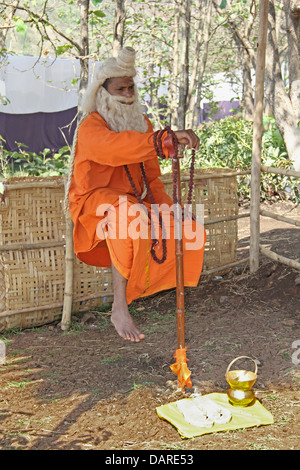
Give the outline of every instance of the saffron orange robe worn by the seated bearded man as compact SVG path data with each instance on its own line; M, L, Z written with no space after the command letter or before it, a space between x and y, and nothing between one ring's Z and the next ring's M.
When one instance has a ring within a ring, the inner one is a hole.
M145 117L145 119L147 119ZM153 143L153 129L148 121L146 133L110 130L108 124L98 113L91 113L80 125L75 149L74 171L69 191L70 214L74 222L74 251L76 256L91 266L107 267L113 265L127 279L127 301L176 286L175 240L167 239L167 259L158 264L151 256L150 228L148 237L118 237L124 233L124 224L134 223L130 207L138 203L134 190L126 174L128 166L134 185L142 194L144 181L140 163L145 172L156 204L173 205L167 195L161 176L159 161ZM163 136L163 152L170 157L172 145ZM144 204L151 212L147 194ZM124 211L124 204L126 210ZM109 207L113 211L109 210ZM107 209L107 210L105 210ZM141 211L143 212L143 211ZM112 214L116 237L109 236ZM149 224L147 215L140 214ZM192 223L192 222L191 222ZM149 224L150 225L150 224ZM155 225L155 224L154 224ZM167 229L174 230L174 220L167 220ZM155 233L159 227L156 224ZM184 283L196 286L203 264L205 233L198 249L186 250L184 244ZM161 258L161 241L157 246L157 256Z

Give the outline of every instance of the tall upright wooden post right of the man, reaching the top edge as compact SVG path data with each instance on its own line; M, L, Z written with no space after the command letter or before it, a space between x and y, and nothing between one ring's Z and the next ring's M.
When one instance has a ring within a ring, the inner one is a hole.
M264 106L268 10L269 0L260 0L259 33L256 58L256 84L253 120L250 201L250 272L252 273L257 271L259 266L261 142L263 134L262 118Z

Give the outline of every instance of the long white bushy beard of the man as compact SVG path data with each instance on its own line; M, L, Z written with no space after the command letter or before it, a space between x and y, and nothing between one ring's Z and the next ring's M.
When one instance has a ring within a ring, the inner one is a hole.
M124 104L130 103L130 104ZM137 93L132 98L111 95L100 86L96 96L96 109L115 132L147 132L148 123L138 102Z

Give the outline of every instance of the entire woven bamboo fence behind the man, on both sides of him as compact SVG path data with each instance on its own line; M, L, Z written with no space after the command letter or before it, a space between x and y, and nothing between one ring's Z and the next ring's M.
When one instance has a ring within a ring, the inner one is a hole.
M224 175L221 176L220 175ZM172 195L172 178L162 177ZM225 170L197 170L193 204L205 221L236 215L236 177ZM0 206L0 331L30 328L61 318L65 285L64 184L60 178L10 178ZM188 176L182 176L185 197ZM209 224L204 270L236 259L236 220ZM74 257L73 312L112 300L110 269Z

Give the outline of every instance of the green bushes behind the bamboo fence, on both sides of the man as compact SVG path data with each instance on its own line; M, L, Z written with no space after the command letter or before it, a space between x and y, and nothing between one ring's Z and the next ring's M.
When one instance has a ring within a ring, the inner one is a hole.
M287 158L283 139L273 117L264 118L262 140L262 164L289 169L292 167ZM200 148L196 152L195 168L229 168L232 170L250 170L252 160L253 125L249 121L236 117L227 117L220 121L208 122L196 130L200 138ZM68 172L69 148L63 147L57 153L44 149L40 154L28 152L19 144L18 152L9 152L1 144L0 136L0 178L9 176L59 176ZM181 161L182 170L190 167L191 152L187 151ZM171 172L170 160L160 161L162 172ZM238 177L239 198L250 199L251 175ZM300 202L299 185L295 178L283 175L263 173L261 181L261 199L291 200Z

